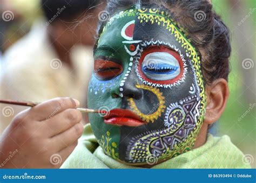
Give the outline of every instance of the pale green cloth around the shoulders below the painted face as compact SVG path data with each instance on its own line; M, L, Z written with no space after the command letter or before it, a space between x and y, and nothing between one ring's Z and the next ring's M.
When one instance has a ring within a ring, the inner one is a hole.
M129 166L107 156L92 133L91 125L84 127L76 149L61 168L140 168ZM203 146L166 160L152 168L251 168L244 154L228 136L208 134Z

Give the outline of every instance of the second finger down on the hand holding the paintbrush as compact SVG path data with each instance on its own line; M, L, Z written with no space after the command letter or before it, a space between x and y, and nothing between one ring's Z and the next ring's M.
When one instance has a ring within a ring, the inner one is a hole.
M44 121L47 125L47 133L49 137L53 137L70 129L73 125L82 121L82 113L77 109L66 109L59 114L48 118Z

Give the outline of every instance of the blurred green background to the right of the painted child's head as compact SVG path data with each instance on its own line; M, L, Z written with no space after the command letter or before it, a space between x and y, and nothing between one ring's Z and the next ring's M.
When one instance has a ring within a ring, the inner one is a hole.
M256 1L212 0L231 31L230 97L215 125L217 135L227 134L256 168Z

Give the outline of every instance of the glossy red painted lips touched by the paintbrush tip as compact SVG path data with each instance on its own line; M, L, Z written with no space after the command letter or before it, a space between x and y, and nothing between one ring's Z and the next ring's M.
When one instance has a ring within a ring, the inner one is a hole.
M104 123L118 126L141 126L146 124L138 115L127 109L112 109L104 117Z

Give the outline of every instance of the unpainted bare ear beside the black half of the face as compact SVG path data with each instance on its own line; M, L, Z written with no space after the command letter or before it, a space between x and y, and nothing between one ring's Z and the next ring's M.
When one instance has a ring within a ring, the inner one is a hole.
M220 118L225 110L229 94L227 81L223 78L206 86L207 106L204 123L210 125Z

